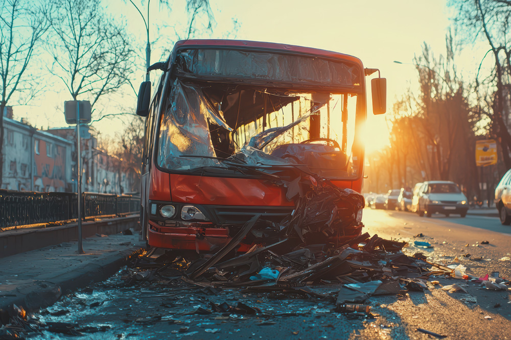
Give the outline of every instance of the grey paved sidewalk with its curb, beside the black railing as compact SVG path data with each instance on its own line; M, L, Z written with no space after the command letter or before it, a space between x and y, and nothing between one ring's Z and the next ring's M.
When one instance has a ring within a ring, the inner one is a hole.
M122 234L83 240L85 254L77 253L77 242L66 242L0 260L0 308L14 303L34 310L92 282L102 281L145 246L138 235Z

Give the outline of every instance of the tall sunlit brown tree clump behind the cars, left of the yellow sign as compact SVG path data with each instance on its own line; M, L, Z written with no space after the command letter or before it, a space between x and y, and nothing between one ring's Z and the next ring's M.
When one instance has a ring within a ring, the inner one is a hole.
M457 74L450 34L446 45L445 56L433 56L425 44L415 58L420 91L394 103L387 116L390 147L380 152L378 164L389 182L396 176L410 187L411 180L454 180L479 194L475 141L480 114L469 104L472 89ZM409 175L407 167L414 169Z

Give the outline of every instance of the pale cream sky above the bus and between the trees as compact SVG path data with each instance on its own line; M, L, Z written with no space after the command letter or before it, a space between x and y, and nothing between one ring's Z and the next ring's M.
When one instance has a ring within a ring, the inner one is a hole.
M140 4L140 0L134 2ZM140 14L128 1L105 0L103 3L108 13L127 23L126 29L143 55L145 31ZM172 13L160 8L154 0L151 3L151 62L159 61L165 48L171 49L168 44L175 41L174 32L184 30L185 22L179 21L183 18L184 0L174 3ZM445 36L450 25L450 9L445 0L210 0L210 3L216 21L214 32L196 38L225 38L226 32L233 29L233 18L236 18L239 29L235 36L230 34L228 37L316 47L356 56L364 67L380 69L381 76L387 79L387 112L408 88L416 88L413 57L421 53L424 42L431 46L436 56L445 53ZM147 1L141 9L147 8L145 6ZM466 48L456 57L464 77L473 77L485 53L484 48ZM140 71L133 81L135 88L144 77L142 59L140 62ZM366 77L368 83L369 79ZM372 114L370 86L367 94L366 138L370 143L366 143L366 148L371 151L388 143L388 131L385 116ZM69 100L67 96L63 84L55 81L51 90L31 102L31 106L15 107L15 118L27 117L37 127L65 126L61 103ZM130 105L135 105L135 97L133 91L125 88L122 93L105 98L100 110L103 114L114 113L126 110L126 107L129 109ZM114 136L121 132L123 120L103 119L94 126L102 134Z

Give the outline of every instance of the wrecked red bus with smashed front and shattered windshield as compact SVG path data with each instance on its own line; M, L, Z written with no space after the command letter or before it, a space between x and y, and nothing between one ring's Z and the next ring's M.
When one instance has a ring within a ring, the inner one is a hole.
M304 165L362 192L365 76L377 69L332 51L240 40L179 41L155 69L155 93L144 82L137 102L147 117L149 246L207 252L255 215L278 223L295 202L259 174L279 167ZM385 113L385 79L371 84L373 111Z

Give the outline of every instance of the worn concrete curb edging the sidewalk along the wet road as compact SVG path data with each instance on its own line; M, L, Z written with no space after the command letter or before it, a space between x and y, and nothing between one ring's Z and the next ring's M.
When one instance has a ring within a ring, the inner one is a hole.
M8 294L0 295L0 309L10 311L13 304L28 311L51 306L64 294L112 276L131 256L139 254L142 250L143 247L134 246L131 249L105 254L94 263L83 263L78 268L73 267L45 275L48 278L39 277L39 280L18 284Z

